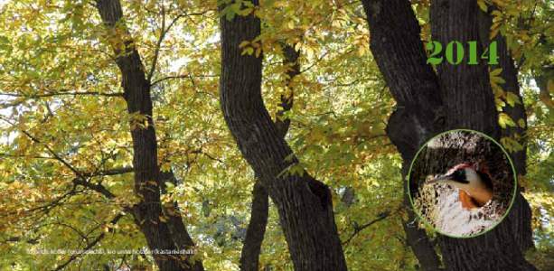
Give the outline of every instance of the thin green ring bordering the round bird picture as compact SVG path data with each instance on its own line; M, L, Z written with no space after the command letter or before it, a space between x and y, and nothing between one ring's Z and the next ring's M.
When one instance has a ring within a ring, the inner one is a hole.
M419 213L419 211L416 209L416 207L414 206L414 201L412 200L412 197L411 197L411 191L409 189L409 176L412 172L412 167L414 166L414 163L416 162L416 159L418 159L418 156L419 156L419 153L421 153L421 151L423 150L424 147L427 146L427 144L435 139L437 136L440 136L440 135L444 135L444 134L447 134L447 133L451 133L451 132L456 132L456 131L465 131L465 132L471 132L471 133L475 133L475 134L479 134L479 135L483 135L485 138L493 141L494 144L498 145L500 147L500 149L502 150L502 152L504 153L504 155L506 156L506 158L508 158L508 162L510 163L510 166L512 166L512 173L513 173L513 192L512 192L512 201L510 201L510 206L508 207L508 209L504 212L504 214L502 215L502 218L500 220L498 220L496 223L493 224L493 226L491 226L489 229L486 229L484 230L483 232L480 232L478 234L475 234L475 235L472 235L472 236L454 236L454 235L449 235L449 234L446 234L438 229L435 229L435 227L433 227L426 219L423 218L423 216L421 216L421 214ZM512 158L510 158L510 154L508 154L508 152L506 152L506 150L502 147L502 145L500 143L498 143L496 140L494 140L493 137L489 136L489 135L486 135L484 134L483 132L479 132L479 131L475 131L475 130L471 130L471 129L452 129L452 130L448 130L448 131L445 131L445 132L441 132L437 135L433 135L433 137L431 137L430 139L428 139L425 144L421 145L421 147L419 148L418 152L416 153L416 155L414 156L414 158L412 159L411 163L409 164L409 169L408 169L408 175L406 176L406 185L407 185L407 191L408 191L408 198L409 198L409 204L411 205L411 208L412 210L414 210L414 213L416 213L416 215L418 216L418 219L419 220L422 220L423 223L430 229L433 229L435 230L435 232L437 232L438 234L441 234L441 235L444 235L446 237L449 237L449 238L462 238L462 239L465 239L465 238L476 238L478 236L481 236L481 235L484 235L485 233L489 232L490 230L496 228L496 226L498 226L498 224L500 224L505 218L506 216L508 215L508 213L510 213L510 210L512 210L512 206L513 206L513 202L515 201L515 196L516 196L516 192L517 192L517 185L518 185L518 174L515 170L515 166L513 166L513 162L512 162Z

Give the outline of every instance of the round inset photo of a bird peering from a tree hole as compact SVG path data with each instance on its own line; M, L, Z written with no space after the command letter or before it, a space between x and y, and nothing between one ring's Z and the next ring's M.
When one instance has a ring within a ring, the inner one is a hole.
M436 135L412 161L408 191L419 217L439 233L471 238L510 210L516 173L493 138L472 130Z

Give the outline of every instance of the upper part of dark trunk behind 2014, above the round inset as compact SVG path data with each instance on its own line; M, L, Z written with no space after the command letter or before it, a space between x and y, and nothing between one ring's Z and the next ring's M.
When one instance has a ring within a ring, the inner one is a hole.
M476 1L431 1L433 40L445 46L457 41L462 43L464 51L469 51L467 42L480 41L479 14ZM481 42L478 42L477 51L477 55L484 51ZM457 65L443 61L437 65L446 129L470 128L499 138L500 126L487 69L486 61L479 61L477 65L469 65L467 61Z

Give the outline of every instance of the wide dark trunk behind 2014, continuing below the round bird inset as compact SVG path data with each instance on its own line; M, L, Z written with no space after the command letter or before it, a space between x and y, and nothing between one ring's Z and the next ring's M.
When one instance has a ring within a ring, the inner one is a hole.
M480 9L476 1L434 0L431 2L431 33L433 39L447 44L462 42L468 51L467 42L479 41L477 55L484 51L479 32ZM504 55L504 57L506 57ZM512 60L510 60L512 61ZM502 131L497 124L493 91L490 86L486 63L458 65L449 63L437 66L443 100L448 112L446 128L465 127L482 131L500 139ZM516 79L517 81L517 79ZM493 230L476 238L439 238L439 245L446 266L455 270L533 270L521 253L516 236L531 232L514 232L524 218L519 217L522 197L506 220ZM486 257L484 257L486 256ZM491 260L493 259L493 260Z

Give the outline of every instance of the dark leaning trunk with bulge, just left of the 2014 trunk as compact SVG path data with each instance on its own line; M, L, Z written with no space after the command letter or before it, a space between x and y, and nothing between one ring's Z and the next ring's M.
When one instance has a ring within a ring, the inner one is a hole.
M404 180L418 145L444 126L437 75L426 64L418 21L408 1L362 1L362 4L370 23L373 57L397 101L387 135L404 160ZM425 230L418 229L408 192L404 193L404 204L408 210L408 221L404 221L408 244L424 270L437 270L439 258Z

